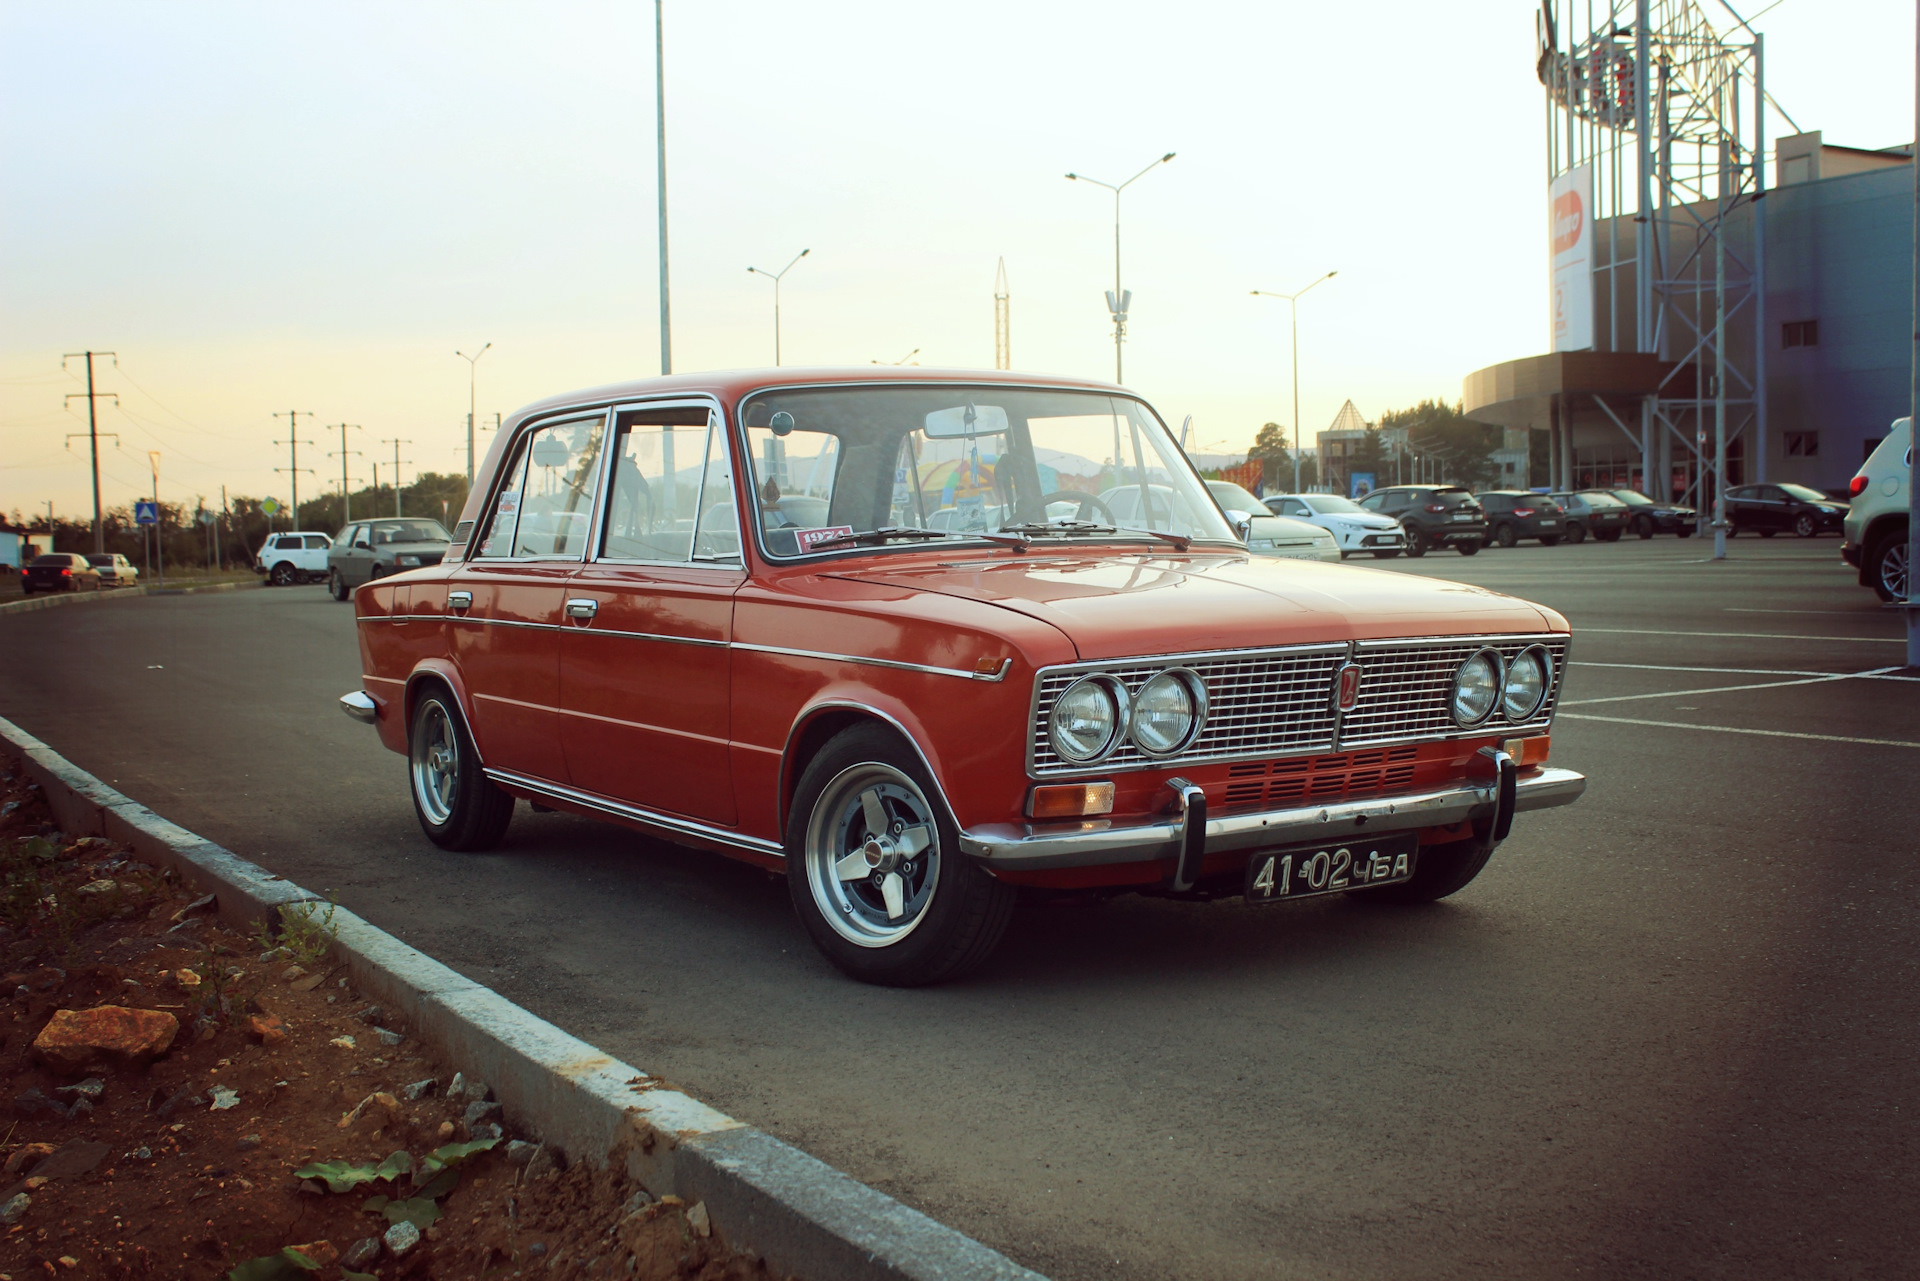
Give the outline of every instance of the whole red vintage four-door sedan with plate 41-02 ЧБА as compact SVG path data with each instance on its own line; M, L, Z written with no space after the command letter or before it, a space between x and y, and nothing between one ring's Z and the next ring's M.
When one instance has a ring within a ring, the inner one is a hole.
M1117 519L1133 486L1146 515ZM1586 786L1546 764L1561 615L1250 557L1098 382L547 399L445 561L353 603L342 705L407 757L428 839L490 847L520 797L783 870L876 983L983 960L1021 885L1428 903Z

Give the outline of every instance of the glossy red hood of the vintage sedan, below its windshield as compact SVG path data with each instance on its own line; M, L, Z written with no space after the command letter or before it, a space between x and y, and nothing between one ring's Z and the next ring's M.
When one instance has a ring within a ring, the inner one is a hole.
M1081 659L1567 630L1553 611L1486 588L1240 553L1033 551L1006 561L874 565L826 576L1012 609L1056 626Z

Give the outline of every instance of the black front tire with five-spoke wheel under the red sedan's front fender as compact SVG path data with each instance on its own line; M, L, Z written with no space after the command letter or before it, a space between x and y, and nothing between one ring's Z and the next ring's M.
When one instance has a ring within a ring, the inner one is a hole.
M920 755L874 724L837 734L801 772L787 814L787 893L814 947L849 978L941 983L983 962L1006 933L1014 887L960 853L939 795ZM887 826L883 849L870 797ZM862 857L860 874L839 880ZM881 893L887 878L893 897Z

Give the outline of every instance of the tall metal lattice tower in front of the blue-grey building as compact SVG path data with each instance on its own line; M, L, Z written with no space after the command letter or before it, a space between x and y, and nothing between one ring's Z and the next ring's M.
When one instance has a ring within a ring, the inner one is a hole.
M1638 447L1657 497L1684 461L1688 497L1711 501L1703 476L1720 453L1751 459L1743 480L1764 480L1761 198L1766 108L1778 106L1761 35L1732 10L1715 31L1693 0L1544 0L1538 36L1549 182L1592 165L1594 350L1661 361L1655 394L1594 403ZM1715 449L1716 434L1730 449ZM1571 484L1559 453L1555 484Z

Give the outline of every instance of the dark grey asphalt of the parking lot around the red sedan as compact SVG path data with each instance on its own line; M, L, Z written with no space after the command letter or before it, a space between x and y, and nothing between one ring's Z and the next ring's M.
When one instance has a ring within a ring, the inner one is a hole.
M1035 901L927 991L710 855L524 807L430 847L324 588L0 618L0 714L1054 1277L1910 1275L1920 680L1836 540L1709 549L1380 567L1574 624L1588 793L1457 897Z

